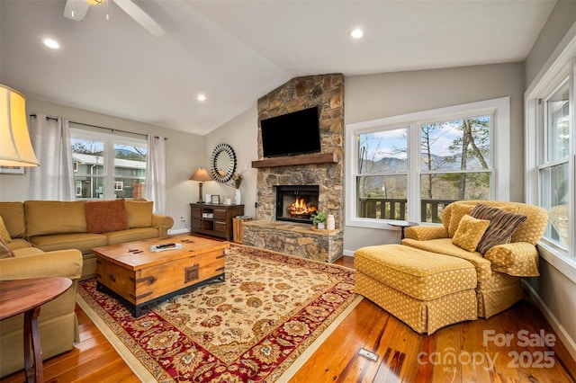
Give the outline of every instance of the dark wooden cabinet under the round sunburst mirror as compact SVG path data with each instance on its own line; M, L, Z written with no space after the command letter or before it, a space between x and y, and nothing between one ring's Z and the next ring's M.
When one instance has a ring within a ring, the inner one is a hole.
M227 240L234 236L232 218L244 215L244 205L191 203L190 209L192 233L218 236Z

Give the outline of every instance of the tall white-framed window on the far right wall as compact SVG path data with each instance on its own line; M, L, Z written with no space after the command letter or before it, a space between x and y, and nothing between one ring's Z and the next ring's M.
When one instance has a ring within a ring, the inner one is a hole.
M539 254L576 282L576 39L530 85L526 110L526 200L549 214Z

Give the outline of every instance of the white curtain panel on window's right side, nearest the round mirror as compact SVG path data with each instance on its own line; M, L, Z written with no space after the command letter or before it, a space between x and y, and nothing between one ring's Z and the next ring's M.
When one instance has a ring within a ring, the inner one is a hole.
M148 135L146 199L154 201L154 212L166 215L166 140Z

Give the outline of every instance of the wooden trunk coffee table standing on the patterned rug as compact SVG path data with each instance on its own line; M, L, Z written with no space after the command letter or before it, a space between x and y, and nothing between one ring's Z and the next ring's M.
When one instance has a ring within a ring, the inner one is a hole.
M151 252L150 246L180 244L181 249ZM225 279L224 249L229 244L177 235L95 247L97 289L118 298L139 317L160 301Z

